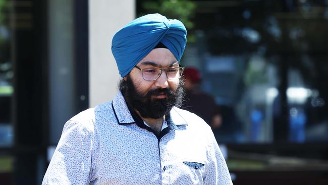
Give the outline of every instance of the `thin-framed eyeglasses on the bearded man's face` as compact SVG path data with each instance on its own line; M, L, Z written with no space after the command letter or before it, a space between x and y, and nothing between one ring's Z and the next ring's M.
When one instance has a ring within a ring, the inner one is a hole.
M182 75L183 70L185 67L179 66L179 67L168 67L166 69L160 69L160 68L144 68L141 69L138 66L134 66L135 68L139 69L142 72L142 77L146 81L154 81L159 78L162 71L165 71L165 74L167 75L167 78L169 80L176 80L179 79Z

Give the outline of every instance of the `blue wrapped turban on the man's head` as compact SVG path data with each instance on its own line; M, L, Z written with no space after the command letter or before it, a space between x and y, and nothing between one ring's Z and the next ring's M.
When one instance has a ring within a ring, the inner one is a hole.
M112 53L120 75L127 75L159 42L180 61L186 47L186 35L182 22L160 14L148 14L127 24L112 40Z

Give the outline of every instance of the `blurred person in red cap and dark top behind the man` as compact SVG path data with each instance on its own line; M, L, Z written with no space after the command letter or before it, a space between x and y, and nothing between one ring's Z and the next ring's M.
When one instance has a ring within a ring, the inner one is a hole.
M199 70L187 67L183 76L186 95L182 108L203 118L212 129L220 128L222 125L220 108L212 96L200 89L201 74Z

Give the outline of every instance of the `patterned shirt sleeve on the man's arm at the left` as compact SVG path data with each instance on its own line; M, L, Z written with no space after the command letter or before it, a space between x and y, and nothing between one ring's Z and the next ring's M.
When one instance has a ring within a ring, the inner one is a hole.
M52 156L42 184L89 184L93 133L68 121Z

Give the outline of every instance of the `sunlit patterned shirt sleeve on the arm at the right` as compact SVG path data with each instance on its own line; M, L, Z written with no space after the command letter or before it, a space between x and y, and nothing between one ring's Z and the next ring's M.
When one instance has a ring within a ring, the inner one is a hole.
M226 160L223 157L220 148L218 148L213 133L209 134L209 136L210 145L209 149L207 150L208 167L205 171L206 176L204 178L204 184L233 184L226 164Z

